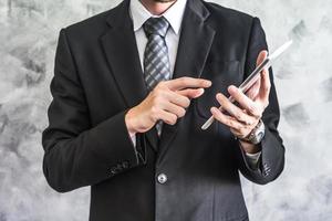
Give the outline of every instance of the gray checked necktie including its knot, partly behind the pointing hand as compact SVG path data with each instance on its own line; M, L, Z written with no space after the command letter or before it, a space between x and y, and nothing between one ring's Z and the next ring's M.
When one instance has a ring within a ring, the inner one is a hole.
M164 18L149 18L143 25L148 39L144 52L144 78L146 86L152 91L160 81L170 78L170 64L165 35L169 28ZM156 124L158 135L162 133L162 122Z

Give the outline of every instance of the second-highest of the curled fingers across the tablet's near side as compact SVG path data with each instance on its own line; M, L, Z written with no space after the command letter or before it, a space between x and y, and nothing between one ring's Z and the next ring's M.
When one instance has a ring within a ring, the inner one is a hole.
M242 122L246 125L251 125L255 123L255 120L256 120L255 117L249 116L242 109L240 109L239 107L234 105L231 102L229 102L229 99L225 95L218 93L216 98L219 102L219 104L221 105L222 109L225 109L227 113L229 113L231 116L234 116L239 122Z

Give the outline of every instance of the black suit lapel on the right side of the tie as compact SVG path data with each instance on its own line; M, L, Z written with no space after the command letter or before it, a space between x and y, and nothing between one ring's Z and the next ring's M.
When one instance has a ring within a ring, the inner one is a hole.
M215 35L215 30L205 23L208 15L209 12L200 0L188 0L173 78L200 77ZM163 159L181 123L180 118L174 126L164 124L158 161Z

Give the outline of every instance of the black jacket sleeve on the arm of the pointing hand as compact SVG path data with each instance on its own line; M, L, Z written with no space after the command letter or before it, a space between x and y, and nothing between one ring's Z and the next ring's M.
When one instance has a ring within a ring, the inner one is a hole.
M65 192L91 186L142 164L127 133L126 110L91 126L65 30L59 36L51 93L42 145L43 172L53 189Z

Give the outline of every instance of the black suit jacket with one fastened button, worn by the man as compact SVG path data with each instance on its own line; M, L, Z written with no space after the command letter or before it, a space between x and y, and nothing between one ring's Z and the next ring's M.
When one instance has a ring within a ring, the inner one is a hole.
M267 49L257 18L201 0L188 0L174 78L203 77L212 86L191 102L176 125L136 136L124 116L146 96L129 0L61 30L51 83L53 101L43 131L43 170L60 192L91 186L91 221L247 220L239 170L256 183L283 169L279 106L272 82L263 113L267 131L259 169L252 169L229 129L210 116L217 92L239 85ZM272 73L271 73L272 80ZM157 176L167 181L159 183Z

